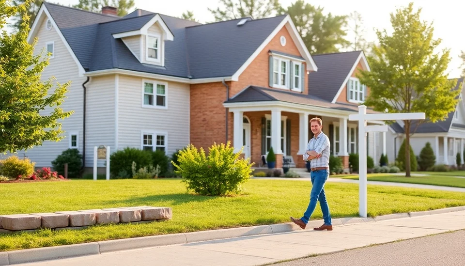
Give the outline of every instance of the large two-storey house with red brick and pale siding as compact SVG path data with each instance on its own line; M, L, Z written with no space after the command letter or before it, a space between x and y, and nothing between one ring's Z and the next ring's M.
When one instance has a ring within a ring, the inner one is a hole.
M369 93L355 78L370 69L365 55L311 56L290 16L202 25L140 9L118 17L111 7L95 14L44 2L29 41L35 37L37 50L52 53L43 77L72 81L61 107L74 110L62 121L63 141L18 152L36 166L50 166L67 148L92 167L99 145L171 156L189 143L208 150L228 140L236 150L244 145L256 166L273 147L278 168L283 156L304 167L315 116L346 167L357 152L357 123L348 115Z

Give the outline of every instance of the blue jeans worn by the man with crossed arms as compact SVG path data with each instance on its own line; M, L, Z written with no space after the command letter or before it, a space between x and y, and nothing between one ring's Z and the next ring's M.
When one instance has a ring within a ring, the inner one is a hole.
M331 225L331 215L329 214L329 206L325 195L325 182L328 179L329 170L317 170L310 172L311 184L313 185L310 192L310 203L304 216L301 218L305 224L309 222L310 216L315 210L316 201L320 202L323 219L326 225Z

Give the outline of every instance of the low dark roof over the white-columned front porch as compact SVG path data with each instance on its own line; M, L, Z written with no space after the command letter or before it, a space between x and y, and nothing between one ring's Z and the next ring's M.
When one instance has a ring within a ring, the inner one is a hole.
M286 91L277 91L258 86L248 86L233 98L225 101L225 103L244 103L244 102L265 102L279 101L294 104L303 104L320 108L345 110L358 112L358 107L353 104L331 103L317 96L296 94ZM367 113L378 113L372 109L367 109Z

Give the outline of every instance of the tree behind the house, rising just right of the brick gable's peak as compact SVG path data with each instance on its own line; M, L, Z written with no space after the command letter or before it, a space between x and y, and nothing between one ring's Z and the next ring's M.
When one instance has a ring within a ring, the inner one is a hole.
M350 44L344 39L343 27L347 23L346 16L323 14L323 8L306 4L297 0L287 10L281 8L279 14L287 13L311 54L339 52L339 47Z

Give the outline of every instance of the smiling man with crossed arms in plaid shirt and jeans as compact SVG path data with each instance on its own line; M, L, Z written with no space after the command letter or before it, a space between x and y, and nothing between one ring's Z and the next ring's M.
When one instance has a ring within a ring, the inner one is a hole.
M310 203L302 218L294 219L291 217L291 220L300 228L305 229L318 200L325 223L320 227L313 228L313 230L333 230L324 188L329 176L329 138L321 131L323 122L320 118L312 118L310 128L313 138L307 145L307 152L302 156L305 161L310 161L310 179L313 185L310 192Z

